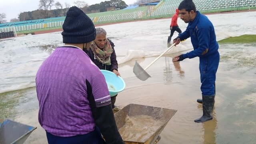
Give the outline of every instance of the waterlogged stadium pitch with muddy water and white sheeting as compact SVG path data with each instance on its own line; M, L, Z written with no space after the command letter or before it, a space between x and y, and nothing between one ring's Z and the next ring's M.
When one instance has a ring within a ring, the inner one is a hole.
M208 15L217 40L228 36L256 34L256 12ZM178 19L182 31L187 24ZM119 72L126 89L116 105L130 103L178 110L161 132L158 144L255 144L256 142L256 43L220 44L216 79L214 119L197 124L202 116L198 58L173 63L178 53L160 58L147 69L152 78L141 81L132 68L136 58L145 68L164 50L170 35L170 19L128 22L102 26L115 44ZM61 32L17 37L0 42L0 118L38 128L25 144L46 144L38 123L35 75L45 60L62 44ZM173 38L177 36L174 33ZM192 48L190 39L171 52ZM183 53L183 52L181 52ZM180 53L179 53L180 54ZM146 58L145 58L146 57ZM127 60L130 60L127 62ZM6 93L4 93L6 92Z

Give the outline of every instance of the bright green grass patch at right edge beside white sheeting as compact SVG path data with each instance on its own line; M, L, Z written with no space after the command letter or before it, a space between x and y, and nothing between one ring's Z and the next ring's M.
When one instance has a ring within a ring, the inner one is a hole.
M245 34L242 36L230 37L230 38L226 38L224 40L220 40L220 41L218 41L218 43L220 43L220 44L256 43L256 34Z

